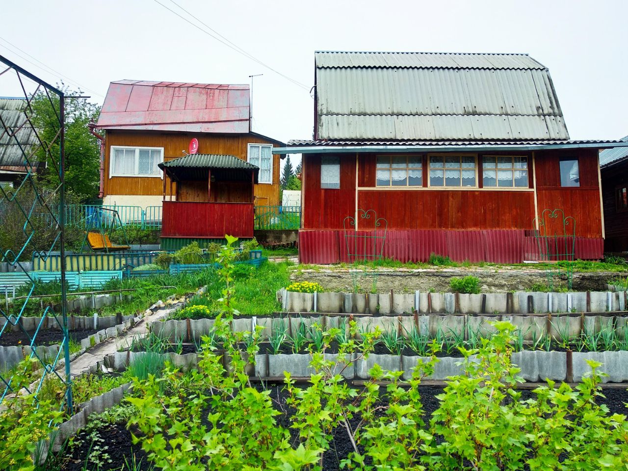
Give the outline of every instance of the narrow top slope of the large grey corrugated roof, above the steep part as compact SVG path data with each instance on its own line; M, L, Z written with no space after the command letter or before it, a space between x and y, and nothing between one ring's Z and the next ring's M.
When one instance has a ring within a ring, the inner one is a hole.
M545 66L528 54L451 52L316 51L322 67L492 68L539 69Z

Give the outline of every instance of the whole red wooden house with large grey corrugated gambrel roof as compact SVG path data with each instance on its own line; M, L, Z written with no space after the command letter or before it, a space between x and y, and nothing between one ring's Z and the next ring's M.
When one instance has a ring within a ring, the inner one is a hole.
M570 140L528 55L320 51L314 100L314 139L274 150L303 156L301 262L538 260L556 208L575 258L602 257L598 151L621 144Z

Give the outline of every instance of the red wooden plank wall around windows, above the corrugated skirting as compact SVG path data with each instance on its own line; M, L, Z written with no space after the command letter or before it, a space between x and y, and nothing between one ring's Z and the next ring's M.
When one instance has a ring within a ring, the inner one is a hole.
M360 154L357 207L376 210L388 220L390 229L533 229L536 211L531 154L504 154L528 156L528 190L379 189L375 187L376 155ZM561 188L560 158L574 155L580 165L581 186ZM320 155L306 154L303 158L303 229L342 229L344 217L355 213L355 155L340 156L339 190L320 188ZM426 164L424 154L424 185ZM563 208L577 220L577 236L602 237L597 150L538 151L536 179L539 210Z

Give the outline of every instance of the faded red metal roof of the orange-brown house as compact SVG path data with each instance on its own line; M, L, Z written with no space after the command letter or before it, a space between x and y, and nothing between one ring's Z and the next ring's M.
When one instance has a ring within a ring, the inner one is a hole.
M249 132L249 85L111 82L96 127L192 133Z

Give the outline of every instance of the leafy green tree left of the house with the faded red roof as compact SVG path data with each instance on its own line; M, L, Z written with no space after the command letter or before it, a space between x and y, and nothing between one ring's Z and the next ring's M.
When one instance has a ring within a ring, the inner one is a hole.
M59 88L67 96L81 95L80 90L72 90L61 84ZM59 97L45 92L39 92L31 102L33 109L32 121L44 143L37 151L40 161L40 178L45 187L57 188L59 176L50 155L59 153L58 139L58 111ZM87 124L95 121L100 112L97 104L90 103L84 98L65 99L65 188L74 193L81 200L93 198L98 194L100 183L100 145L98 139L89 132ZM50 152L46 153L46 148ZM57 158L55 158L57 161Z

